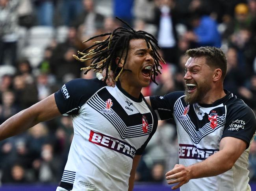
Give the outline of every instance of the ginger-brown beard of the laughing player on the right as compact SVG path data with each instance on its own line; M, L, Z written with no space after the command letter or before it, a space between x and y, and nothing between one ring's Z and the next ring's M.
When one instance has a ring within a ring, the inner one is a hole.
M196 89L193 92L188 92L189 88L186 84L195 84ZM185 102L187 104L193 104L193 103L200 103L200 101L204 98L204 96L208 93L208 91L211 89L210 83L207 82L207 80L202 80L201 82L191 82L186 81L185 84Z

